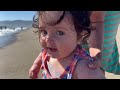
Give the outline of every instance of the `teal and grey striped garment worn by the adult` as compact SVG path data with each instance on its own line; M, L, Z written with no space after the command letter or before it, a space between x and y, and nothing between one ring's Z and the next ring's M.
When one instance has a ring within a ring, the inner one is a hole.
M117 30L120 24L120 11L107 11L104 20L102 69L120 75L120 58L116 42Z

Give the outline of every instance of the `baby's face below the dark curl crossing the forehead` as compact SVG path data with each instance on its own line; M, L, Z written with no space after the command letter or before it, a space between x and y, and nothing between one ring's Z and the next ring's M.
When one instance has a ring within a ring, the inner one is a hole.
M51 12L51 11L49 11ZM39 19L41 46L53 58L62 59L69 56L77 46L77 33L71 18L66 14L57 25L48 26Z

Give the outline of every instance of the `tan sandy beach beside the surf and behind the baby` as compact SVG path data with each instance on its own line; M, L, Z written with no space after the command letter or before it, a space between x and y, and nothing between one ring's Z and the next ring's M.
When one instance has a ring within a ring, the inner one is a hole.
M37 35L33 29L16 34L14 41L0 48L0 79L29 79L28 71L40 52ZM120 30L117 40L120 48ZM106 73L108 79L120 79L120 75Z

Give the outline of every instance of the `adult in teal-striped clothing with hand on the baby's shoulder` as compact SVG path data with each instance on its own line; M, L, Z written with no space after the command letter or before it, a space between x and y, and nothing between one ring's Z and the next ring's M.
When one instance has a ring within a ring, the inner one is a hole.
M96 62L89 64L89 68L101 67L103 71L120 75L120 57L116 43L120 11L93 11L91 22L96 31L91 33L89 51Z

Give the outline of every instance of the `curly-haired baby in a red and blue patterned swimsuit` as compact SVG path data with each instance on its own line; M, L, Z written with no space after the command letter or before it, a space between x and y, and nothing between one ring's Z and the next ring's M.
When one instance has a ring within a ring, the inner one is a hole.
M81 44L93 27L88 11L39 11L37 27L42 51L29 70L29 77L43 79L105 79L100 68L89 69L93 58Z

